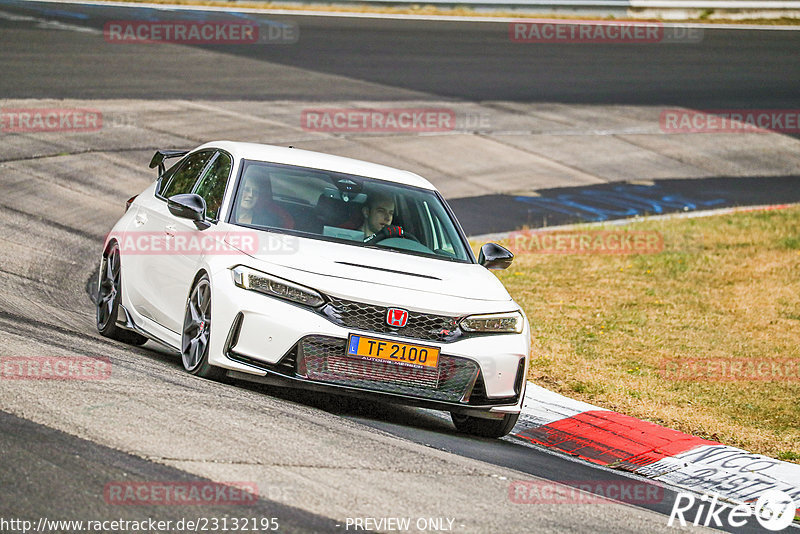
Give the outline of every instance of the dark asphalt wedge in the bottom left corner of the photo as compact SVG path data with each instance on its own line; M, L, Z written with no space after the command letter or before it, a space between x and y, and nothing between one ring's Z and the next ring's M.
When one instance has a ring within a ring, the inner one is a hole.
M201 506L121 508L104 499L110 480L148 482L180 481L186 484L210 482L184 471L148 462L90 441L76 439L51 428L0 412L0 498L3 517L36 522L40 517L117 518L139 520L143 515L177 523L182 518L214 515L236 516L240 505L215 506L213 511ZM49 483L47 483L49 481ZM52 481L58 481L53 484ZM98 491L99 490L99 491ZM110 494L109 494L110 495ZM53 505L58 503L57 505ZM70 514L67 511L73 512ZM66 512L66 513L65 513ZM258 499L248 505L248 513L265 518L280 518L287 532L333 532L336 522L303 510Z

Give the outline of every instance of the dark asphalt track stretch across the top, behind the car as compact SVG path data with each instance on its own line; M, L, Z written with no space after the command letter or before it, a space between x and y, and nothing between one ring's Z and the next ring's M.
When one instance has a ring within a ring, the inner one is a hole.
M21 7L20 7L21 6ZM0 1L9 12L102 29L111 20L186 19L181 12ZM274 74L252 77L235 62L203 62L185 47L165 65L155 48L87 49L63 32L58 46L0 22L0 95L7 98L208 98L392 100L414 93L470 101L795 108L800 32L705 30L699 43L520 44L507 23L250 15L294 22L297 45L213 45L256 59ZM195 19L230 20L221 14ZM44 59L44 61L43 61ZM381 91L304 83L279 66L381 84ZM165 70L169 68L169 70ZM53 83L55 80L58 83Z

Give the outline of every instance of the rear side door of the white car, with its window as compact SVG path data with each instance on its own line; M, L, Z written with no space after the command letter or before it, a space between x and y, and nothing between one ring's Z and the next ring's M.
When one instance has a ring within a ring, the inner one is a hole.
M137 278L135 294L131 292L136 311L176 333L180 332L183 319L170 314L168 295L175 293L176 285L184 284L180 282L183 275L174 270L173 259L179 219L169 212L166 199L191 193L213 155L213 150L189 154L164 173L153 196L140 203L135 216L136 234L144 236L138 242L146 243L147 250L136 250L124 260L125 269L133 270Z

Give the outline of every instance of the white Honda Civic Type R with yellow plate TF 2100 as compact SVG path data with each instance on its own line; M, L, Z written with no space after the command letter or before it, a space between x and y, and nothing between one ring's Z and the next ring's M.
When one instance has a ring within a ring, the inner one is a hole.
M180 158L166 169L164 161ZM451 413L511 431L530 338L424 178L349 158L220 141L159 150L100 264L97 328L179 352L186 370Z

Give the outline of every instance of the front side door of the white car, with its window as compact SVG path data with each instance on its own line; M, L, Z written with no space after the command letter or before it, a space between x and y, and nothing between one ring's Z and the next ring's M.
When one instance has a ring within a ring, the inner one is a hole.
M171 330L180 331L183 328L186 300L189 298L194 276L202 264L203 251L208 247L211 247L212 253L218 250L213 242L224 237L219 235L217 223L232 163L231 156L226 152L214 153L189 191L206 201L206 220L211 224L209 228L199 229L194 222L170 214L171 222L166 227L165 238L168 249L174 253L165 255L162 262L162 306L167 316L164 324Z

